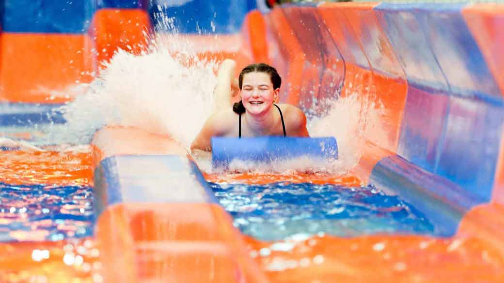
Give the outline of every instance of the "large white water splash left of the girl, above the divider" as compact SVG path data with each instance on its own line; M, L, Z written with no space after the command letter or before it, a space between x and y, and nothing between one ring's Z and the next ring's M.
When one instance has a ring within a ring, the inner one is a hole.
M216 63L175 37L160 35L141 56L119 50L88 92L60 109L68 123L53 138L85 144L100 127L123 125L171 135L188 149L214 107Z

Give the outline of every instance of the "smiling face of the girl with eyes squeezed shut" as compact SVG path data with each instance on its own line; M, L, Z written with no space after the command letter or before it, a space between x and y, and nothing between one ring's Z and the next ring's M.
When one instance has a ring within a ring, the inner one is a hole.
M266 114L278 99L280 89L273 89L270 75L252 72L243 75L241 101L253 115Z

